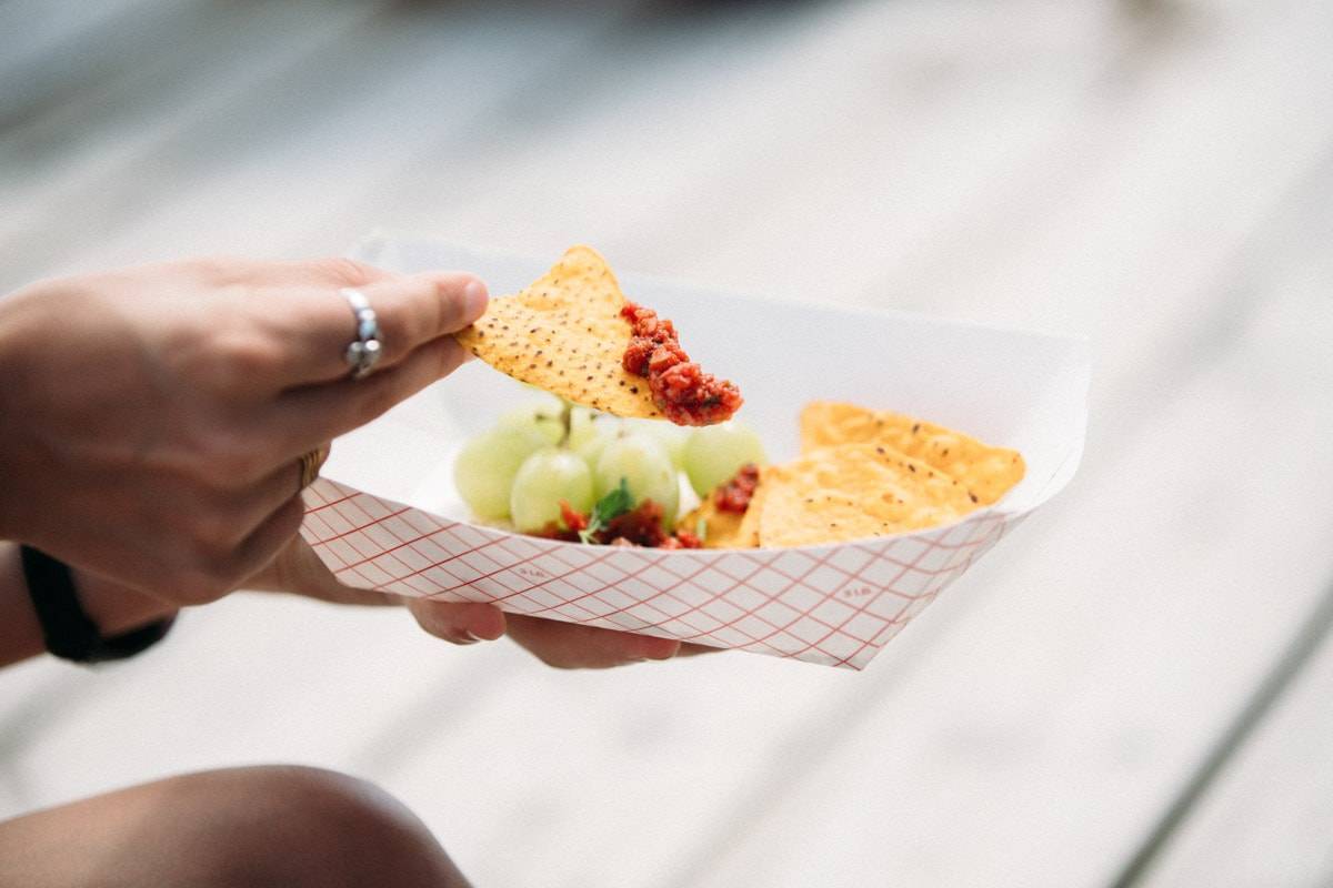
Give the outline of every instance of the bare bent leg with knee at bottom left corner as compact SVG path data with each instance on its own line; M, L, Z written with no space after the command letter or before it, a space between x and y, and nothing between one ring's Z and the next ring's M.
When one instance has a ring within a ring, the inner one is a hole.
M467 888L425 825L332 771L168 777L0 823L0 884L25 888Z

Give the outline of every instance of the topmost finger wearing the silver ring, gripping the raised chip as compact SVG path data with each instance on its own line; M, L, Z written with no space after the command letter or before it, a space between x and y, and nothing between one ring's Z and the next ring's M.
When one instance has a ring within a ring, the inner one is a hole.
M291 386L347 377L347 347L357 339L356 314L343 293L348 288L312 288L289 297L275 324L291 358ZM375 313L380 359L400 362L415 349L456 333L487 308L487 286L465 272L429 272L355 288Z

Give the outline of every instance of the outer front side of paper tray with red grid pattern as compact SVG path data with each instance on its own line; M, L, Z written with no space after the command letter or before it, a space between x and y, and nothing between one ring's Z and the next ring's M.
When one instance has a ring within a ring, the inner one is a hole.
M842 546L666 553L453 522L328 479L301 533L349 584L862 668L1021 517Z

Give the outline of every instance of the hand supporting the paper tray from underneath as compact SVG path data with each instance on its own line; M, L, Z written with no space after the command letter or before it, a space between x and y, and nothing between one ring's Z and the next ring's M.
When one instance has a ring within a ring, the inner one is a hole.
M509 635L539 660L557 668L605 668L712 650L666 638L505 614L495 604L432 602L352 588L340 583L300 538L252 578L247 588L295 592L344 604L405 604L421 628L447 642L472 644Z

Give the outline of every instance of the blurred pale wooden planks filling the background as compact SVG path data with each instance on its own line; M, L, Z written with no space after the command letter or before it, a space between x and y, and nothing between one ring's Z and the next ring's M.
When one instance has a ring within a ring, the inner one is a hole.
M1330 44L1317 0L0 3L0 290L387 226L1097 355L1080 477L864 674L236 596L0 674L0 816L284 760L479 885L1329 884Z

